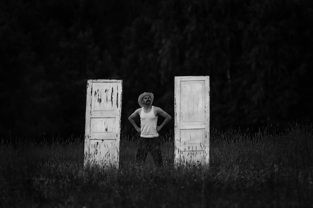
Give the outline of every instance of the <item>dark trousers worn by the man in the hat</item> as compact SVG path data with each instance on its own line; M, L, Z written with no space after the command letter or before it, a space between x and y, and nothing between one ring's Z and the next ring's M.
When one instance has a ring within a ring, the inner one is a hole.
M136 154L137 162L143 164L148 152L151 153L154 164L162 166L161 143L158 137L139 138L139 146Z

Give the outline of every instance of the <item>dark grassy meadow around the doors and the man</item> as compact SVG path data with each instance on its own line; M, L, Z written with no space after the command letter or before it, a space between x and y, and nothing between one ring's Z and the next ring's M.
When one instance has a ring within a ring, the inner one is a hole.
M173 133L163 133L164 167L134 164L123 136L120 168L84 169L81 139L1 142L0 207L313 208L313 131L210 136L210 166L173 166Z

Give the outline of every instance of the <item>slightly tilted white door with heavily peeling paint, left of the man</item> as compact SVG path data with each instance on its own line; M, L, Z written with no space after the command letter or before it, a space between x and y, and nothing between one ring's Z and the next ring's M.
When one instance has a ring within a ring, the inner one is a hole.
M87 80L84 166L118 168L122 80Z

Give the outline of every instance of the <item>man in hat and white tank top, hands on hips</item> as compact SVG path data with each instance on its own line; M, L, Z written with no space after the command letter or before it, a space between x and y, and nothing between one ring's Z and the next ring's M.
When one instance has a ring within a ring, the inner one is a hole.
M163 128L163 126L171 120L170 115L168 115L162 109L152 106L154 96L150 92L144 92L138 97L138 104L141 108L138 108L129 117L128 121L140 132L139 147L136 154L136 160L142 164L144 163L148 152L151 153L154 164L162 166L162 156L160 140L158 137L158 132ZM157 126L158 116L164 118L161 125ZM134 118L140 117L140 128L134 121Z

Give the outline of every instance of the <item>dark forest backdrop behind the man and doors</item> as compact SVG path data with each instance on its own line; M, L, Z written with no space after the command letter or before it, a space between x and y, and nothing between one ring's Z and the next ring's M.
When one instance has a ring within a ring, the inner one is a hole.
M210 127L220 131L311 119L312 8L311 0L0 1L0 137L83 138L87 79L123 80L127 131L144 91L173 117L178 75L210 76Z

